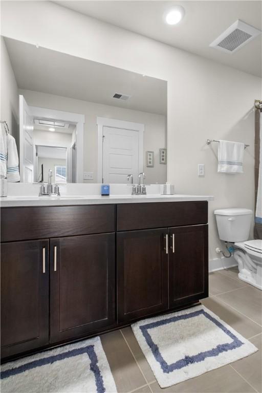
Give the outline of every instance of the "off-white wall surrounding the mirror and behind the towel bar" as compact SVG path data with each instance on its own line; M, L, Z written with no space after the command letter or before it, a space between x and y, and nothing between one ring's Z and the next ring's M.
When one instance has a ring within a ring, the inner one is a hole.
M221 244L213 210L254 209L253 104L261 97L260 78L51 2L2 2L2 16L2 34L10 38L167 80L167 179L178 193L214 195L209 254L216 258ZM206 146L207 138L250 144L245 173L217 173L217 146ZM198 163L206 165L204 178L197 175Z

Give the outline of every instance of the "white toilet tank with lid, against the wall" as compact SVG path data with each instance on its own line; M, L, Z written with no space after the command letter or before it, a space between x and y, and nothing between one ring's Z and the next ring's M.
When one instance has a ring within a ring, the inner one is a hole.
M219 237L225 242L244 242L249 238L252 219L250 209L218 209L214 211Z

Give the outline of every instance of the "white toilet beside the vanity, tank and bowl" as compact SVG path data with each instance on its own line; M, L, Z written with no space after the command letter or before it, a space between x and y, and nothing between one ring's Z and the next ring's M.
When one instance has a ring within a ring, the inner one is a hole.
M262 240L247 240L252 213L250 209L214 211L220 239L234 248L238 277L262 290Z

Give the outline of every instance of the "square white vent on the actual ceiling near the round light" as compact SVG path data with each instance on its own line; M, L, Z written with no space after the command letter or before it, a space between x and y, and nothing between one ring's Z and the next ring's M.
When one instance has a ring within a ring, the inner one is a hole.
M260 30L238 19L209 46L227 53L234 53L260 33Z

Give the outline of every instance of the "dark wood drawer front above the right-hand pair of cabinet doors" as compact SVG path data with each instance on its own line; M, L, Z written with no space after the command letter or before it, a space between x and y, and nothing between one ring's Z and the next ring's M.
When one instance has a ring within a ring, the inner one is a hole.
M207 201L117 205L117 231L206 224Z

